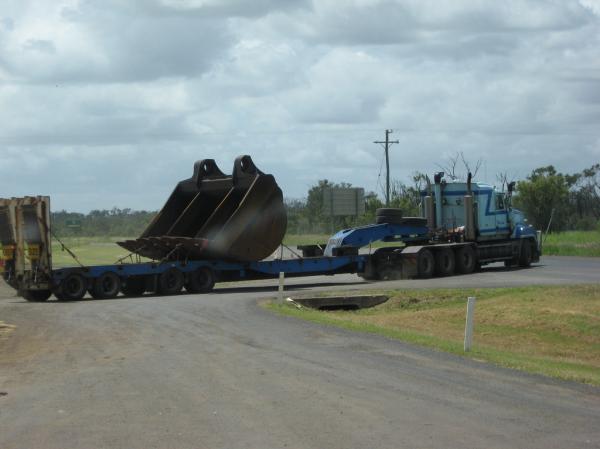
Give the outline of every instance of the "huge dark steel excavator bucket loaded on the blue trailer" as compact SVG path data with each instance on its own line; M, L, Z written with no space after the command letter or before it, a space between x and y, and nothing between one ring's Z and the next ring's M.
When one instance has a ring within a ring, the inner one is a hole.
M140 238L118 242L151 259L226 259L250 262L283 241L287 217L272 175L240 156L225 175L213 159L194 164Z

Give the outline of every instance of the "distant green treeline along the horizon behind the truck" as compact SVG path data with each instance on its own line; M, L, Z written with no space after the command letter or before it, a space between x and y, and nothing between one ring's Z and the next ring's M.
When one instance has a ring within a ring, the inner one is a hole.
M506 186L508 179L499 176ZM416 173L412 184L392 182L390 207L405 216L419 215L420 192L429 178ZM323 191L329 187L351 187L349 183L318 181L306 198L285 201L288 234L328 234L351 226L373 223L375 210L384 207L374 192L365 195L365 213L359 217L328 217L323 212ZM553 166L541 167L517 183L514 206L523 210L537 229L546 229L552 216L551 232L592 230L600 224L600 164L575 174L558 173ZM554 212L552 212L554 211ZM93 210L88 214L66 211L52 214L53 230L58 236L134 237L142 233L156 211L131 209Z

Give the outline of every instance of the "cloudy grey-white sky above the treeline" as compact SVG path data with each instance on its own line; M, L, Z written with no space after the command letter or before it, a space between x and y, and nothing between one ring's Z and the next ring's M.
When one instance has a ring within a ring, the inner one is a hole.
M0 197L156 210L249 154L287 198L600 162L600 0L0 0ZM384 166L383 166L384 167Z

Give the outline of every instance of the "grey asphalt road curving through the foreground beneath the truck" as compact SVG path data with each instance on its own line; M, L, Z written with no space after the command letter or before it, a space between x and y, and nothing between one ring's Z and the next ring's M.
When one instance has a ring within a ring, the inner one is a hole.
M545 257L529 270L431 281L289 284L505 286L599 274L599 259ZM0 299L0 320L17 326L0 338L0 448L600 447L599 388L274 316L256 304L272 285Z

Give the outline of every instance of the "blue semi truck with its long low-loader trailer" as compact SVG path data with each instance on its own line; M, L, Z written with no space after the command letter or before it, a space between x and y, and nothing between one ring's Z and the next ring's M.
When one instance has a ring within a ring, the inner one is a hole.
M246 167L249 167L247 161ZM52 265L50 198L35 196L0 199L0 275L27 301L46 301L52 295L58 300L77 301L88 294L92 298L108 299L119 294L139 296L148 292L175 295L183 289L189 293L207 293L217 282L268 279L278 277L280 273L286 277L355 273L368 281L428 279L466 275L494 262L528 267L538 262L542 253L541 233L527 223L522 212L512 207L514 184L510 184L508 192L504 193L490 185L472 182L471 175L466 182L458 182L446 181L443 173L437 173L433 184L421 192L419 217L405 217L399 209L378 209L375 223L340 230L323 244L299 246L293 257L252 260L251 250L260 243L257 239L261 232L268 234L269 229L276 228L281 238L283 235L281 218L278 222L269 221L262 228L252 221L253 214L248 208L256 207L260 203L260 192L265 191L264 187L258 190L259 193L252 191L253 185L261 185L257 180L264 176L258 170L253 173L255 179L245 182L246 190L240 193L234 171L233 184L227 186L229 193L219 200L219 204L229 204L227 208L232 217L237 214L235 232L228 231L225 235L235 234L236 254L243 257L232 256L231 252L223 250L222 244L215 246L216 238L211 240L210 234L203 237L198 237L197 233L195 237L149 236L146 232L142 238L122 246L132 248L139 241L144 249L141 246L133 249L139 248L139 252L154 257L153 260L138 256L107 265L77 263L55 268ZM215 185L224 184L225 178L221 175L217 183L214 178L209 178L206 189L213 189L210 190L213 192ZM182 202L177 193L181 192L181 183L178 185L179 190L170 197L171 204L167 202L170 210L173 209L173 198L181 206L180 215L173 219L175 224L184 218L191 223L193 216L200 216L189 211L191 205L199 201L198 197L205 195L203 182L206 179L195 179L195 190L186 185L189 203ZM275 187L266 189L271 206L275 201L272 199ZM232 192L239 197L235 207L228 196ZM252 201L245 202L248 197ZM214 195L212 198L214 200ZM219 205L213 209L212 213L205 213L206 222L215 216L223 216ZM259 211L258 215L264 221L264 212ZM164 219L164 215L160 216ZM221 221L227 224L232 219ZM246 225L252 230L252 242L248 247L244 246ZM156 222L152 226L156 228ZM206 223L197 227L206 228ZM226 240L223 235L220 232L218 238L221 241ZM271 234L265 235L265 239L273 245ZM229 248L227 246L228 251Z

